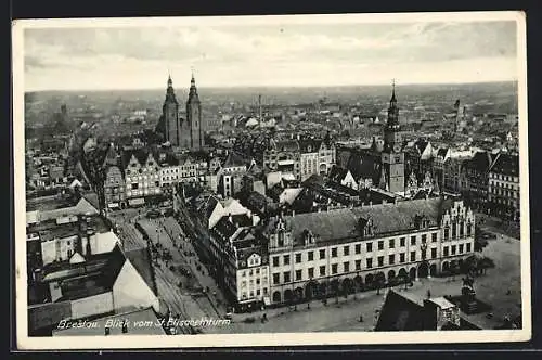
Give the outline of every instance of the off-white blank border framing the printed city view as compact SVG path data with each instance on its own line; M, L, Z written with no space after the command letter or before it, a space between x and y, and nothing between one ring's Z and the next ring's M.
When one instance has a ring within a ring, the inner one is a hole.
M242 22L240 22L240 18ZM348 22L486 22L516 21L518 66L518 115L520 154L521 207L521 330L482 330L453 332L337 332L337 333L267 333L267 334L201 334L177 336L130 335L29 337L27 334L27 275L25 221L25 134L24 134L24 36L27 28L51 27L125 27L202 25L203 17L137 17L137 18L70 18L23 20L12 24L13 39L13 146L14 146L14 205L15 205L15 306L16 344L20 349L144 349L144 348L212 348L255 346L331 346L369 344L447 344L526 342L531 338L531 273L529 224L529 163L527 137L527 42L526 15L520 11L450 12L403 14L337 14L337 15L268 15L212 16L212 26L251 24L332 24ZM242 24L241 24L242 23ZM62 80L62 79L61 79Z

